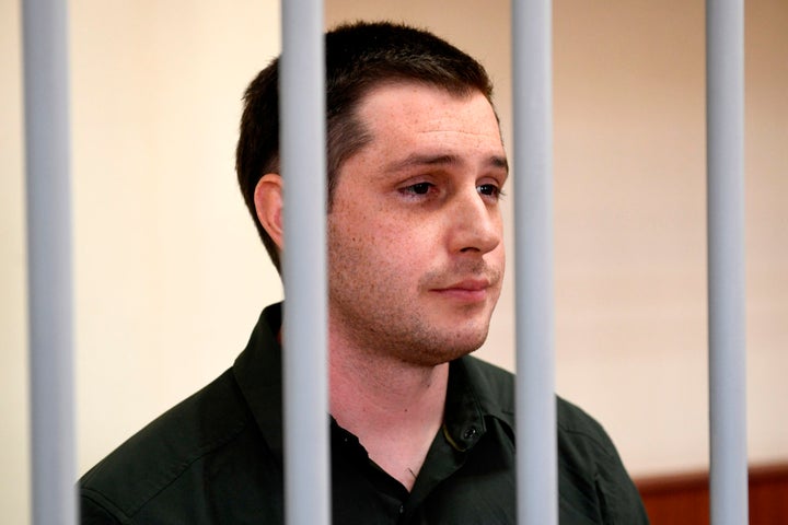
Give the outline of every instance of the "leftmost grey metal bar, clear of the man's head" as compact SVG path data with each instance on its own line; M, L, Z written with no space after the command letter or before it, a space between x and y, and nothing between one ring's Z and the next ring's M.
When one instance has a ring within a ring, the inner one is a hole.
M67 10L22 4L33 523L77 522Z

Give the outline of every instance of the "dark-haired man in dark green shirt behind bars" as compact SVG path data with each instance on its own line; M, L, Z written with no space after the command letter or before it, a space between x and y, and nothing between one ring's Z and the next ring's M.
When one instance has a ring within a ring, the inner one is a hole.
M278 268L277 68L246 92L236 168ZM489 79L392 24L328 33L326 69L334 523L512 524L513 378L468 355L505 266ZM282 523L280 323L266 308L231 370L83 477L83 523ZM557 402L561 523L647 523L604 431Z

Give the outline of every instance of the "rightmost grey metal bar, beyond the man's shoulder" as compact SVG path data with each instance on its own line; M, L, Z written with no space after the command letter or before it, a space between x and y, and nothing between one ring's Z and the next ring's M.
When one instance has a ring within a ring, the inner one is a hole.
M748 523L744 340L744 5L706 2L710 494Z

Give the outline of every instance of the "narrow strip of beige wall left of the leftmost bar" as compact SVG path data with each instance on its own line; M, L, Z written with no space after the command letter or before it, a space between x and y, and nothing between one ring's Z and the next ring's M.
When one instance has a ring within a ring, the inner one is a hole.
M20 2L0 2L0 508L28 522Z

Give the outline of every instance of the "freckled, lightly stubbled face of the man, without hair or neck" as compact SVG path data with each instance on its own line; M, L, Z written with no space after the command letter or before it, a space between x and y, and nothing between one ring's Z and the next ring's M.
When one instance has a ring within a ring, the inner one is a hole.
M332 338L414 364L477 349L500 293L498 122L480 93L383 85L328 214Z

